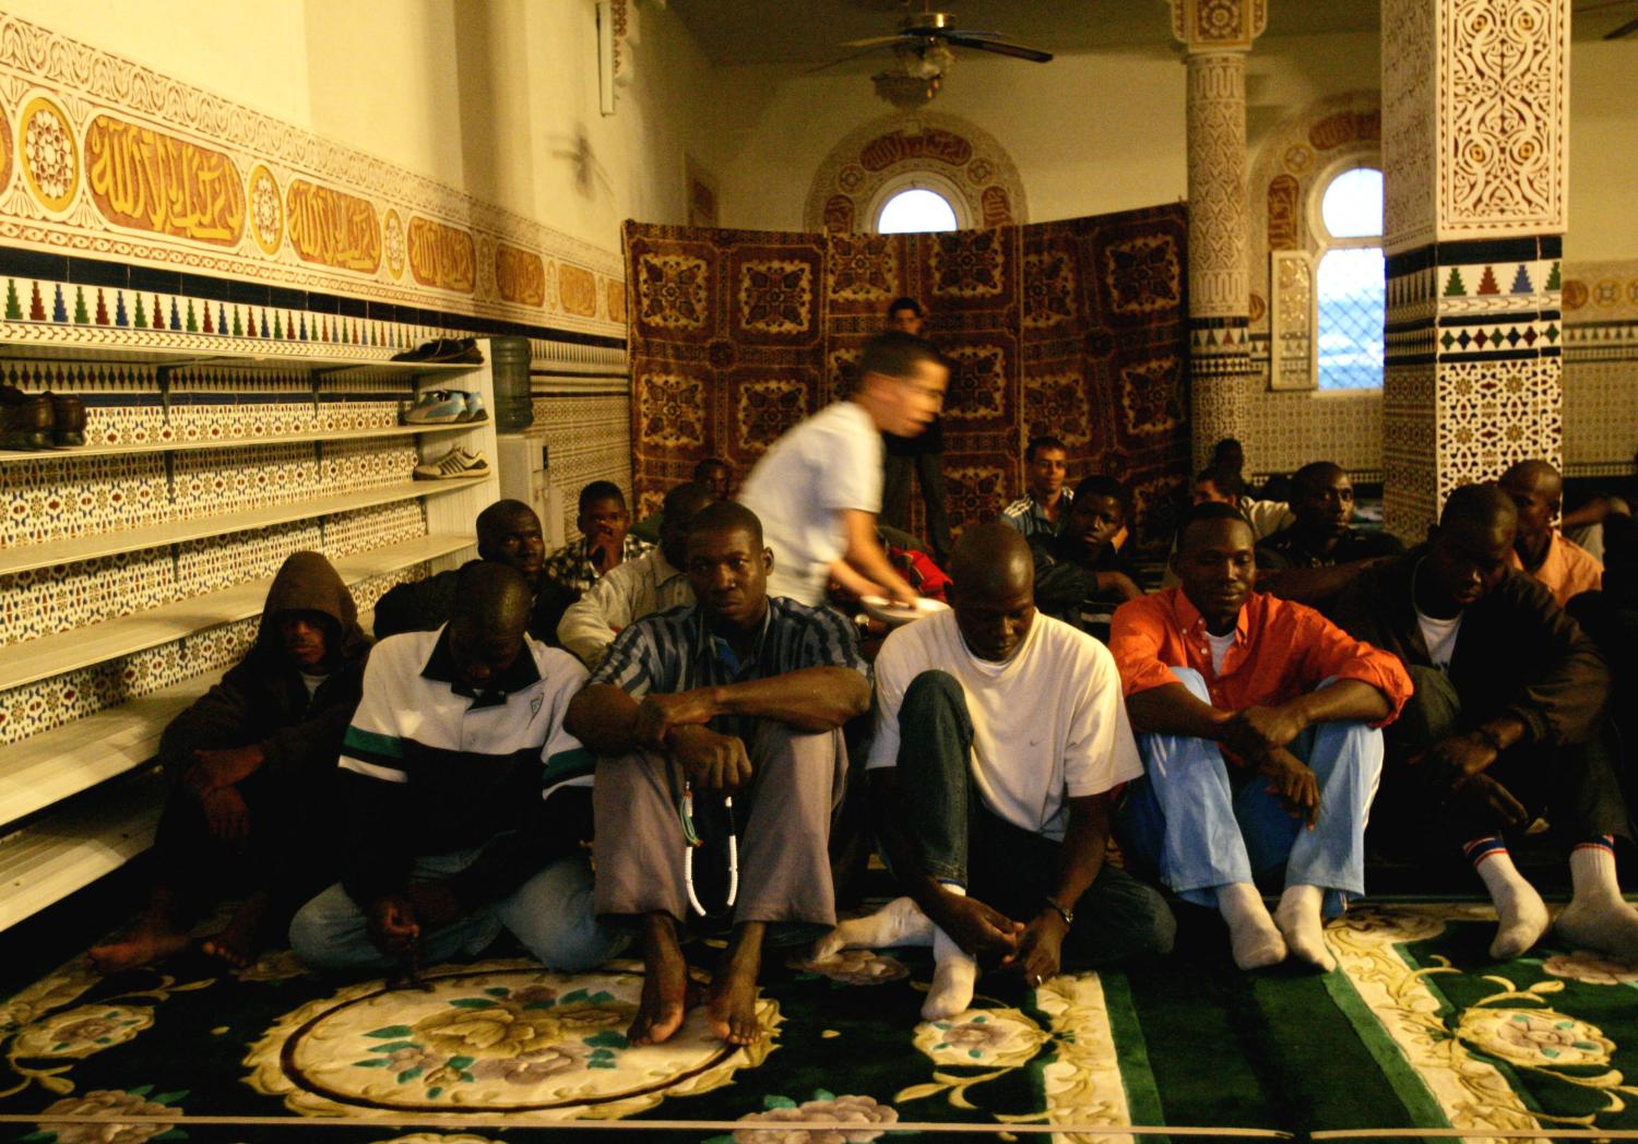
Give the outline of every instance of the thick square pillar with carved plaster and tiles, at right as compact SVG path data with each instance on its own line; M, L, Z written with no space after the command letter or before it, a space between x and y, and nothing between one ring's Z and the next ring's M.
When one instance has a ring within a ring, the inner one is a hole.
M1382 0L1386 525L1563 465L1571 0Z

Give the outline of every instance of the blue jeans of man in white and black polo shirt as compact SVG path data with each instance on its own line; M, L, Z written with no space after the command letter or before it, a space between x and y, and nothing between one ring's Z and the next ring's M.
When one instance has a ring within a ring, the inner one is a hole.
M482 848L418 858L411 882L449 877L472 866ZM396 961L370 941L364 908L336 882L310 900L290 921L290 948L318 969L393 969ZM421 936L421 962L436 964L459 953L482 953L501 926L549 969L590 969L613 957L631 939L598 925L591 910L591 863L581 854L559 858L511 894Z

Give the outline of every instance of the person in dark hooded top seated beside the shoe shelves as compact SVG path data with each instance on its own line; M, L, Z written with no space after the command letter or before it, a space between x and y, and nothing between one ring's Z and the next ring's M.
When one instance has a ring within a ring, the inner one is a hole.
M147 910L90 951L105 974L180 953L226 889L247 894L205 953L242 969L333 871L314 807L328 800L370 640L352 594L316 552L292 553L267 592L256 645L170 720L159 759L175 784L154 838Z

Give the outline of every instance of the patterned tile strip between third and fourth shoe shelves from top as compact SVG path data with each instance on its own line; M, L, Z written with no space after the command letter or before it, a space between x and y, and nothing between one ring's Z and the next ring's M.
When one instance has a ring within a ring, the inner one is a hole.
M423 535L426 514L410 501L0 576L0 646L262 579L293 552L339 560Z

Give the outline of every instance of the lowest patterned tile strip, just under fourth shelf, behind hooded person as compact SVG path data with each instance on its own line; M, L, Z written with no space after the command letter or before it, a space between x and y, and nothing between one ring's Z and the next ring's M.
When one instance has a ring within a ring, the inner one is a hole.
M352 597L369 610L393 584L419 579L426 565L405 568L357 584ZM108 660L93 668L69 671L23 687L0 692L0 745L16 743L95 715L128 699L152 694L170 684L213 671L226 671L256 642L257 620L210 628L187 640L151 648L141 655Z

